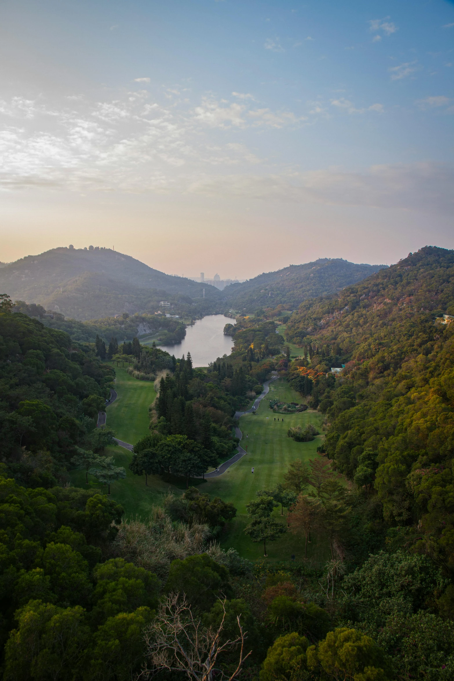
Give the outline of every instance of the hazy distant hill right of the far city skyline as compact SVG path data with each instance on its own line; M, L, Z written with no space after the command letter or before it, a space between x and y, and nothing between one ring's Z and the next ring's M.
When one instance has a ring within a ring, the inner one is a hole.
M332 294L385 267L357 265L342 258L319 258L277 272L264 272L244 283L232 284L223 293L229 304L240 311L253 312L279 304L291 310L308 298Z

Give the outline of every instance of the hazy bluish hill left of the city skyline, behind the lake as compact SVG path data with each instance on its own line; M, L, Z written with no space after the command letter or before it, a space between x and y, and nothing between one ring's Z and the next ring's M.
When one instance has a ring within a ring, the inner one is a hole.
M20 258L0 269L0 290L12 300L84 320L153 311L167 297L189 305L196 302L197 311L205 314L216 305L221 311L222 306L214 286L164 274L129 255L99 247L62 247Z

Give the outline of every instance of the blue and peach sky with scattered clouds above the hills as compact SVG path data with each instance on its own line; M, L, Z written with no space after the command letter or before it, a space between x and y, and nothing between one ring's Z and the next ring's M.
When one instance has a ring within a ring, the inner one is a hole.
M246 279L454 247L454 2L3 0L0 261Z

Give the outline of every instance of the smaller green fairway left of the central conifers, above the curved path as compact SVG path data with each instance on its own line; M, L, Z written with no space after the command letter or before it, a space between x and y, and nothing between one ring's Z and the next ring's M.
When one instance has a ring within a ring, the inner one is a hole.
M116 366L115 372L118 397L106 410L106 425L119 440L134 445L150 432L148 407L155 400L155 387L151 381L137 381L121 366Z

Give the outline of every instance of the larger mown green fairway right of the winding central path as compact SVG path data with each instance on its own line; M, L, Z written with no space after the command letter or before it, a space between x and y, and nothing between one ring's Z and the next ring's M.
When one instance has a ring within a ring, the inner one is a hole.
M317 447L323 435L312 442L297 443L287 437L290 426L312 423L321 425L321 415L315 411L305 411L291 416L276 416L270 410L269 400L278 397L285 402L299 402L297 394L283 379L278 379L270 386L267 397L261 401L257 415L247 414L240 417L240 428L243 435L242 445L248 445L248 454L230 467L229 471L217 478L210 478L204 487L210 497L221 496L224 501L231 501L238 509L237 517L221 537L223 548L233 547L242 556L255 560L263 556L263 545L253 543L243 530L248 524L246 503L255 497L257 490L270 489L282 482L289 463L297 458L308 461L317 455ZM277 418L279 417L279 421ZM246 434L248 437L246 438ZM250 469L254 466L255 472ZM280 508L274 510L276 518L280 518ZM284 518L286 511L284 511ZM283 535L276 542L267 543L267 560L288 560L295 554L297 560L304 558L304 541L291 533ZM308 547L308 558L314 562L324 562L328 549L323 545L317 547L317 536L312 537Z

